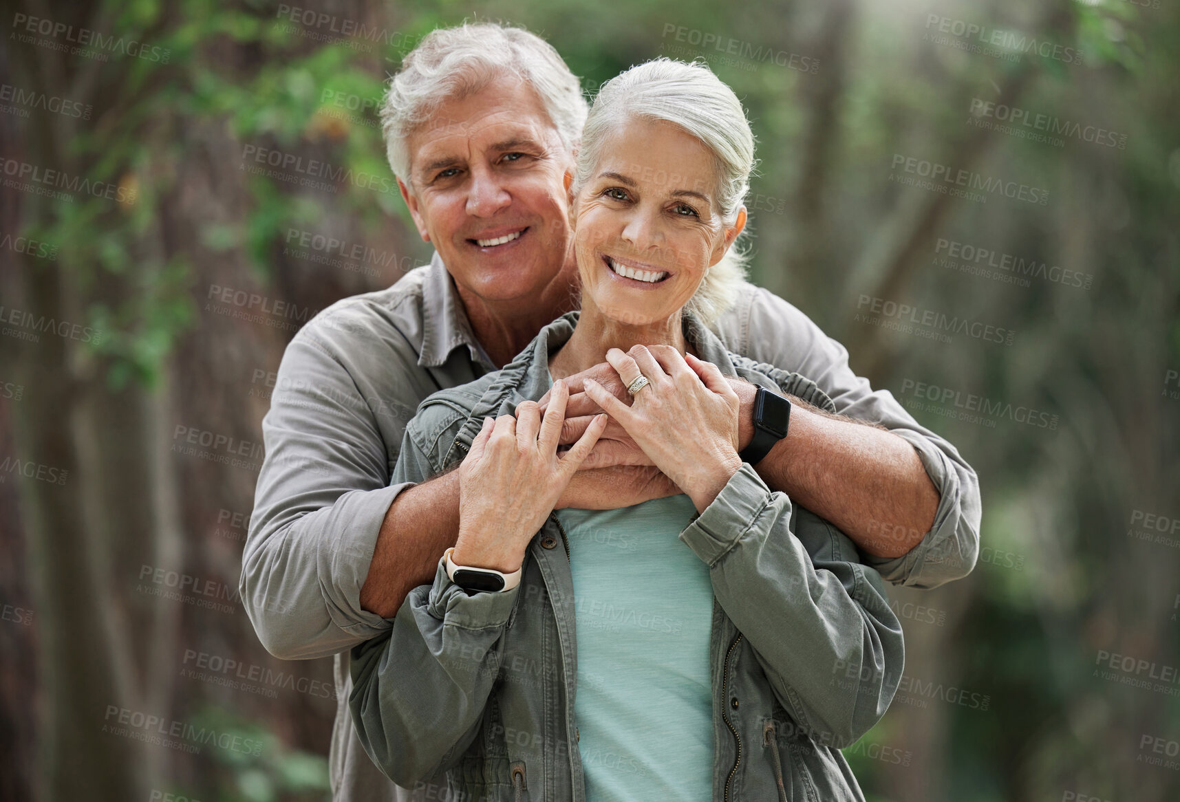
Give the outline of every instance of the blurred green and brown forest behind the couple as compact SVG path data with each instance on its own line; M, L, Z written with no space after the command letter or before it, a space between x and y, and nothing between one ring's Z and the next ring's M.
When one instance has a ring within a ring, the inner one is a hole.
M493 19L588 93L708 60L759 140L753 280L979 474L974 573L891 590L906 678L846 750L870 798L1180 798L1174 1L4 7L0 797L327 798L330 662L270 657L236 604L268 375L428 258L374 107L425 33ZM260 175L270 151L373 180ZM137 714L238 745L145 743Z

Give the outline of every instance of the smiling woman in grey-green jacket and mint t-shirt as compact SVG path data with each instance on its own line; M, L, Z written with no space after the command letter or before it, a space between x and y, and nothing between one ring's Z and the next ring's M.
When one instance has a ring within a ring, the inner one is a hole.
M900 626L852 543L741 460L723 376L834 407L704 326L740 270L753 151L703 65L609 81L566 177L581 311L409 422L394 481L459 462L461 524L434 583L353 650L353 719L394 782L445 770L461 800L863 798L838 749L889 706ZM585 392L683 492L555 511L607 422L560 451L563 379L603 354L630 403Z

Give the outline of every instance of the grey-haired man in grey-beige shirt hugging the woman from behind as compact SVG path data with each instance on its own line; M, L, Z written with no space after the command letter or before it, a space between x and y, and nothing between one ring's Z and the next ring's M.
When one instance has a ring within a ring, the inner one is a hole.
M335 656L336 800L444 798L432 783L398 788L365 754L348 714L348 650L393 625L406 593L431 581L455 541L458 472L388 484L418 403L503 367L577 308L563 179L585 114L578 79L523 29L470 25L424 38L381 117L398 185L434 257L320 313L278 368L241 592L271 653ZM814 380L841 414L791 399L787 435L756 465L767 484L846 532L892 583L965 576L978 552L979 489L953 446L873 392L844 347L786 301L743 282L716 311L712 326L732 351ZM586 373L609 383L612 370ZM582 377L569 380L565 440L596 409ZM734 382L746 447L754 387ZM625 397L617 376L612 390ZM615 508L678 492L617 427L591 465L560 506Z

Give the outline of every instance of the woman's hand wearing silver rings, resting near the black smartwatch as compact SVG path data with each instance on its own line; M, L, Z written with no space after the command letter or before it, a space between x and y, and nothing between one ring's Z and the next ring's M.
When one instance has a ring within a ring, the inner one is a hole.
M631 406L589 377L583 381L585 393L693 499L697 512L704 512L741 468L738 394L717 366L691 354L686 359L671 346L631 351L634 359L617 348L607 351L624 384L640 374L648 379Z

